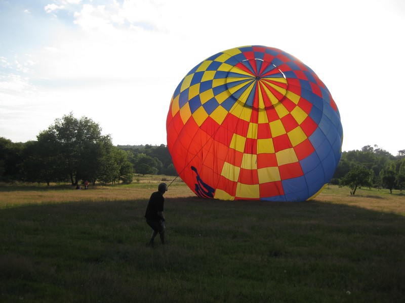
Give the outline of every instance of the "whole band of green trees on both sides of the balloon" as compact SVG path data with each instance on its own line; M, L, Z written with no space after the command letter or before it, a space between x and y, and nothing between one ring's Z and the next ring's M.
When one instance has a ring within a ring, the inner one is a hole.
M35 141L0 137L0 181L130 183L135 174L177 175L166 145L117 145L98 123L72 113L56 119ZM344 151L331 184L402 190L405 149L397 156L377 145Z

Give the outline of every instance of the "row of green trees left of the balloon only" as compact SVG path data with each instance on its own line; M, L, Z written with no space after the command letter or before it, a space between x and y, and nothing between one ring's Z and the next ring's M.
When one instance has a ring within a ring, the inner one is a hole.
M0 137L0 181L130 183L134 174L176 175L167 146L114 146L98 123L72 113L34 141Z

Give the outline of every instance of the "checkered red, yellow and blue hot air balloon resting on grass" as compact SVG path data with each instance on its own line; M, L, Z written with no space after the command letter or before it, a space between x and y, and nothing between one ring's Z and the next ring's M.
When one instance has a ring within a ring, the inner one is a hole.
M305 64L253 45L199 63L174 91L167 142L201 197L305 201L331 180L343 130L328 88Z

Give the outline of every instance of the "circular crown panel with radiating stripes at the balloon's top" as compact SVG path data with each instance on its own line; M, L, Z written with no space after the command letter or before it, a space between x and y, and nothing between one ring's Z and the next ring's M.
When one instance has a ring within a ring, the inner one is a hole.
M243 106L274 107L287 93L286 75L273 63L247 59L234 65L226 77L228 92Z

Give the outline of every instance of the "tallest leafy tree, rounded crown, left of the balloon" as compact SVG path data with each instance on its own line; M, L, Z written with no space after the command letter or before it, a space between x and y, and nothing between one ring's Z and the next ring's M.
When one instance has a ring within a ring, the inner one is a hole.
M76 119L72 113L64 115L39 133L37 141L52 146L50 157L60 157L62 162L59 177L68 175L72 185L84 179L94 183L99 176L107 175L108 169L114 170L108 165L108 154L113 147L110 136L102 135L99 124L87 117Z

